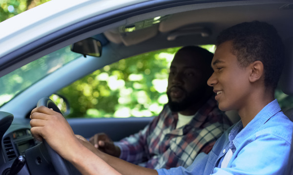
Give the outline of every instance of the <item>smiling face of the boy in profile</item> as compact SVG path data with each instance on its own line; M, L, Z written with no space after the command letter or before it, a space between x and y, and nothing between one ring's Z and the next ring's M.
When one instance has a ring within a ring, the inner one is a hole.
M250 71L238 66L237 57L231 51L231 41L217 47L211 61L214 72L208 80L208 85L213 87L215 99L222 111L239 110L247 104L250 90Z

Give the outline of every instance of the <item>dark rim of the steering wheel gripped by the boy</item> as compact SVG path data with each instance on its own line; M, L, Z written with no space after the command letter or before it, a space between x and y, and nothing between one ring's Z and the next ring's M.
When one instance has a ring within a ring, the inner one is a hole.
M45 106L48 108L52 108L54 111L59 112L62 114L58 106L49 98L42 98L38 101L37 107L39 106ZM62 114L63 115L63 114ZM61 157L58 153L56 153L50 145L46 142L46 140L43 140L42 143L44 144L48 155L50 156L51 162L55 168L55 171L58 175L72 175L70 172L70 168L68 167L66 160Z

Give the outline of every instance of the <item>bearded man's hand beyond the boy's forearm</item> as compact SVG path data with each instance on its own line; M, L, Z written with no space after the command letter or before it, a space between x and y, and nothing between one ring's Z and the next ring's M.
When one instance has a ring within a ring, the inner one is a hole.
M120 156L120 148L115 146L114 142L105 133L95 134L89 139L89 142L104 153L115 157Z

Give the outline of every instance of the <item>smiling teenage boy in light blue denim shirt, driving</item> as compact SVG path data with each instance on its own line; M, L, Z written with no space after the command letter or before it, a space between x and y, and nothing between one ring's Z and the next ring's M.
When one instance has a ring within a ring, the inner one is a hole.
M152 170L111 157L83 138L77 140L63 116L45 107L32 111L31 131L84 175L282 175L293 130L274 100L283 62L281 38L267 23L241 23L219 35L208 84L219 108L237 110L241 121L216 141L209 155L199 154L187 169Z

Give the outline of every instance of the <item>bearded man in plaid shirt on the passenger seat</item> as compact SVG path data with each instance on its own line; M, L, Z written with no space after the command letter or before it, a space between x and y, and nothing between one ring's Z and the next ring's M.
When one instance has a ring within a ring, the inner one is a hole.
M90 142L107 154L153 169L188 167L198 153L208 154L230 126L206 83L212 57L197 46L181 48L170 66L168 104L160 115L144 130L115 145L103 133Z

